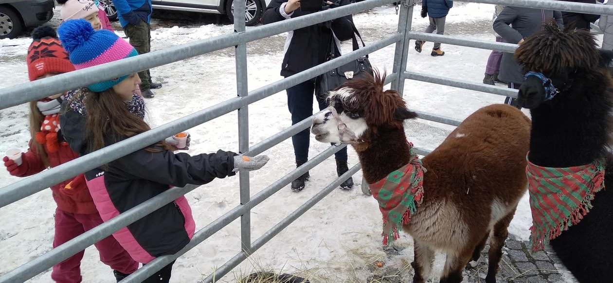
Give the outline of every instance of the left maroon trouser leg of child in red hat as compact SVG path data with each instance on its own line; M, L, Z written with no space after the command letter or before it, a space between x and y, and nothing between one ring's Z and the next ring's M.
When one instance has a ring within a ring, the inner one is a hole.
M74 214L66 213L59 208L55 209L55 236L53 237L53 248L60 246L74 239L76 236L85 232ZM58 283L81 282L81 260L85 251L77 252L72 257L66 258L62 262L53 266L51 279Z

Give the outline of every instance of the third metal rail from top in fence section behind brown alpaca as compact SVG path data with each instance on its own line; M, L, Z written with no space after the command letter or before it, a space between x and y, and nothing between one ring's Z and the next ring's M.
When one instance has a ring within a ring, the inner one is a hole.
M471 91L481 91L499 96L509 96L517 98L517 89L501 88L500 86L490 86L482 83L471 83L465 80L456 80L455 78L440 77L437 75L422 74L418 72L405 72L404 78L411 80L425 81L427 83L436 83L438 85L453 86L455 88L470 89Z

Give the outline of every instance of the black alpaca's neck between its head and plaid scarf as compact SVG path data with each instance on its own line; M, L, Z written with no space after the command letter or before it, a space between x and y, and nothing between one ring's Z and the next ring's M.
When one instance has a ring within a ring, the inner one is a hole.
M591 83L576 84L531 110L531 162L571 167L603 156L609 142L610 93L604 83Z

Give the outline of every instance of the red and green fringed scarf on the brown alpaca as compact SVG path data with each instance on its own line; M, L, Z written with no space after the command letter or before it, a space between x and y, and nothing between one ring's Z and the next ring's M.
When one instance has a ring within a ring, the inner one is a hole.
M383 214L384 246L400 238L398 226L411 220L424 197L424 173L427 170L413 153L413 144L409 143L409 146L412 159L408 164L389 173L385 179L368 185Z

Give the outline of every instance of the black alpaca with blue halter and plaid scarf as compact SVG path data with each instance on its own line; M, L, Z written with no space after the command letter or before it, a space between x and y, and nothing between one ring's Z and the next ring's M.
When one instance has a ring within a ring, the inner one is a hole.
M532 115L532 249L549 242L579 282L613 280L613 52L597 48L587 30L546 25L515 53L528 71L518 104Z

